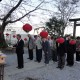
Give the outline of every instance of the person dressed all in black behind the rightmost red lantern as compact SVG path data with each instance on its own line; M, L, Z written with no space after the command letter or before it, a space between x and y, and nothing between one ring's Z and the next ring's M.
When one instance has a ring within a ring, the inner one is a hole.
M74 53L76 51L76 43L74 40L67 40L67 66L74 65Z

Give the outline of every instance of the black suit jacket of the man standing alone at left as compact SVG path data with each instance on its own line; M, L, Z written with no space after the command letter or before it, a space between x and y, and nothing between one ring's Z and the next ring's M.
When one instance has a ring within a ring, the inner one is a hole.
M24 54L24 41L22 39L19 42L17 42L17 44L14 45L14 47L16 47L17 54Z

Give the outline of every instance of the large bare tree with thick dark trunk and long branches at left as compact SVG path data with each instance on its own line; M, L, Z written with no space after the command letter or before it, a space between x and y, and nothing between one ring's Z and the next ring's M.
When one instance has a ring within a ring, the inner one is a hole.
M39 9L44 3L44 0L36 2L31 0L9 0L10 2L0 3L0 41L1 45L4 46L4 31L7 25L20 21L30 13Z

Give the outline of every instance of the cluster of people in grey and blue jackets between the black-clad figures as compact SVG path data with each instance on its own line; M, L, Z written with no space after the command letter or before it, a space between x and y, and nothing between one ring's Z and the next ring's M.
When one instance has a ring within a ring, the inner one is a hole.
M54 61L57 61L56 54L56 43L53 41L53 37L41 38L39 35L35 35L34 38L31 35L28 35L28 53L30 60L33 60L33 50L36 51L36 62L40 63L42 60L42 52L44 52L45 56L45 64L48 64L52 59L52 56L56 56L53 58ZM53 43L54 42L54 43ZM53 45L54 44L54 45ZM54 54L52 54L54 52Z

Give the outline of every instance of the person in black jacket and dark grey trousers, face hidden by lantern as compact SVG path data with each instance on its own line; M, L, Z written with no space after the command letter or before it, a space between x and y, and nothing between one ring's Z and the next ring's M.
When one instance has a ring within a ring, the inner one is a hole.
M57 47L57 56L58 56L58 67L60 69L64 68L65 65L65 42L63 43L57 43L56 42L56 47Z

